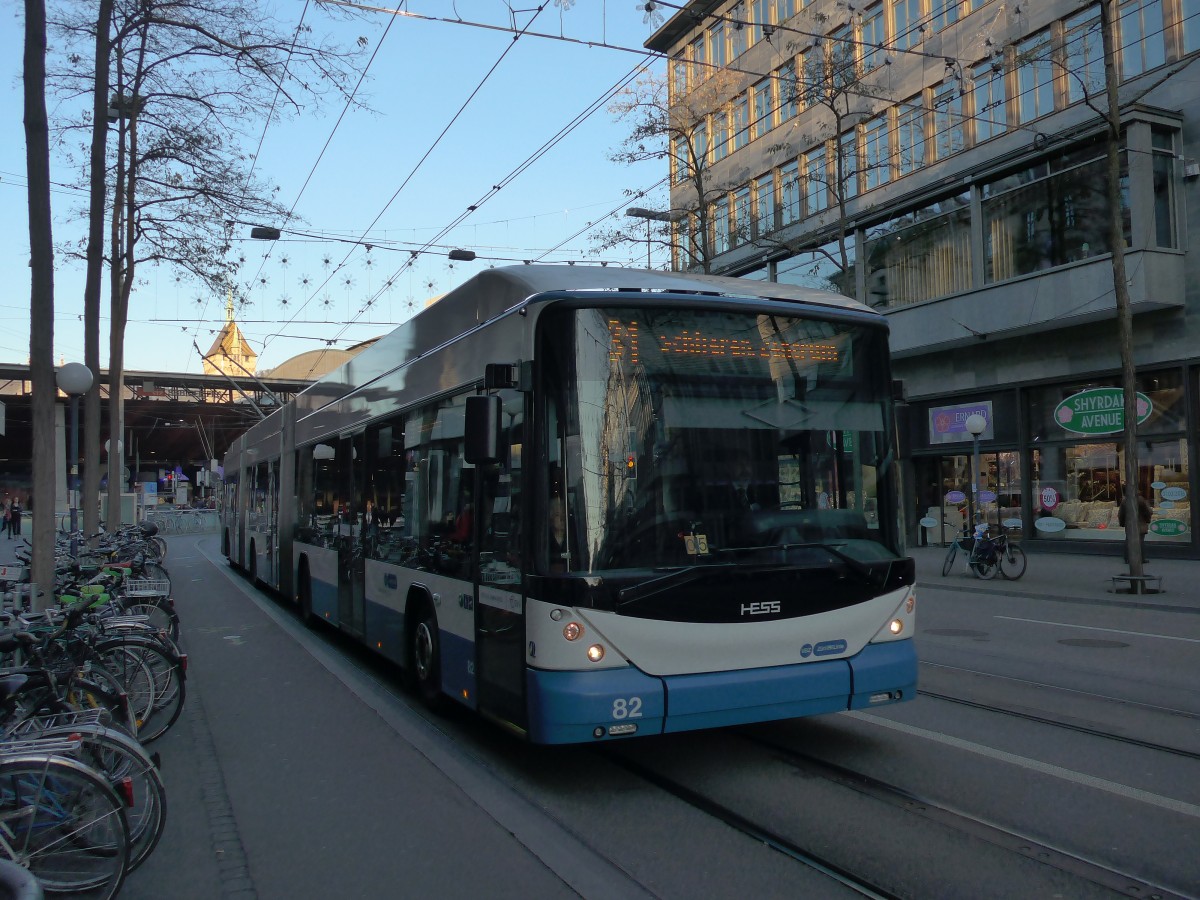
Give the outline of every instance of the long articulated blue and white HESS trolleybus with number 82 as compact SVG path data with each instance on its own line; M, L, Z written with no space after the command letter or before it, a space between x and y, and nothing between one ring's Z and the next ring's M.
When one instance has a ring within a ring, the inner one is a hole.
M234 443L224 553L538 743L910 700L890 385L836 294L491 269Z

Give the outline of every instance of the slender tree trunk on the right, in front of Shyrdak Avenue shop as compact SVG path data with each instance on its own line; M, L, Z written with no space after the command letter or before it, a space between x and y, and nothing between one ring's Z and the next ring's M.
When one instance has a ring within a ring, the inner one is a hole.
M1104 44L1104 86L1106 114L1106 187L1109 199L1109 242L1112 245L1112 289L1117 306L1117 343L1121 352L1121 388L1124 392L1124 473L1122 502L1126 509L1126 554L1129 574L1142 575L1141 516L1138 510L1138 376L1133 361L1133 313L1124 266L1124 221L1121 215L1121 102L1117 92L1116 47L1112 40L1115 0L1100 4L1100 37Z

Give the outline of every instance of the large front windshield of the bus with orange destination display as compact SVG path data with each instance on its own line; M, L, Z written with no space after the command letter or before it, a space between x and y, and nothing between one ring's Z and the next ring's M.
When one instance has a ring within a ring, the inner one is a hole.
M551 571L895 558L881 328L671 306L542 325Z

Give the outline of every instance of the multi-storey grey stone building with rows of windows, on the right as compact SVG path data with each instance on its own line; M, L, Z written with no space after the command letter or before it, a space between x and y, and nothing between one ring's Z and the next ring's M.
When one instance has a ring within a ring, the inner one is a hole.
M1124 0L1117 17L1147 556L1194 556L1200 0ZM926 515L960 521L979 412L992 521L1046 548L1121 552L1102 37L1087 0L692 0L647 42L690 122L670 152L671 205L688 211L677 266L703 258L888 316L911 539L942 539Z

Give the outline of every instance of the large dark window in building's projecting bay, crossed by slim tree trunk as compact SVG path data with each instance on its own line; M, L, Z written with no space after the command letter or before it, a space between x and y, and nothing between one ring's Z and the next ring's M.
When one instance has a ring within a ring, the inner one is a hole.
M984 278L1004 281L1110 252L1105 164L1098 138L983 185ZM1124 152L1121 172L1127 197ZM1122 206L1128 245L1128 202Z

